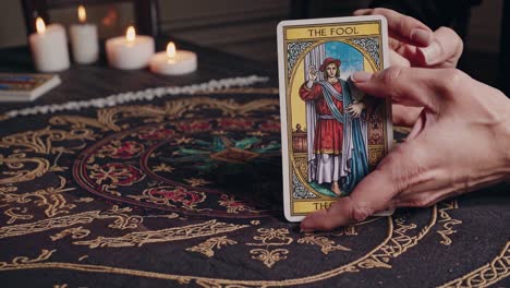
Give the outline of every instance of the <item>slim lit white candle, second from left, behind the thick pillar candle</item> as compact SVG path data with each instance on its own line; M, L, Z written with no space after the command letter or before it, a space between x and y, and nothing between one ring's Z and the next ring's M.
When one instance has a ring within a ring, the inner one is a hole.
M80 24L71 25L69 31L73 58L76 63L94 63L99 57L97 26L86 23L87 13L83 5L78 7L77 12Z

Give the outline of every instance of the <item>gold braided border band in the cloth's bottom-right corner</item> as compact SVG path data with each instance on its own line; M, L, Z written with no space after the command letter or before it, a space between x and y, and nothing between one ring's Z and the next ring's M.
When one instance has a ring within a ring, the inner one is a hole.
M439 288L446 287L488 287L510 276L510 241L507 242L501 253L490 263L458 278Z

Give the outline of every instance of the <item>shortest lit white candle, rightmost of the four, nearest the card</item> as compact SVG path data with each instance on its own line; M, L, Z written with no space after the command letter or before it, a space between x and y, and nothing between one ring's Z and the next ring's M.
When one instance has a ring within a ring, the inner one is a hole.
M167 45L166 52L159 52L150 58L150 71L165 75L182 75L196 70L196 53L177 50L173 43Z

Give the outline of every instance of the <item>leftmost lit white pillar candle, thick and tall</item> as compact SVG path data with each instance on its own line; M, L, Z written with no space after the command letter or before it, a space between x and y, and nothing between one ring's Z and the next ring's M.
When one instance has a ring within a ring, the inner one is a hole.
M42 19L37 17L37 33L28 37L35 67L41 72L57 72L69 69L69 50L65 29L62 25L46 27Z

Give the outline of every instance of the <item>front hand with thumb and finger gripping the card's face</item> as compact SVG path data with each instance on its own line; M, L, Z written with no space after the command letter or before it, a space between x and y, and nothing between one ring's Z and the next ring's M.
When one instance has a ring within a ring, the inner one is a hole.
M353 74L364 93L424 107L408 140L345 197L308 215L303 231L329 230L393 207L424 207L510 175L510 100L456 69L392 67Z

